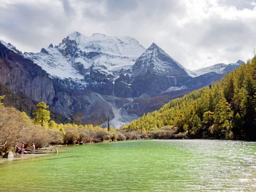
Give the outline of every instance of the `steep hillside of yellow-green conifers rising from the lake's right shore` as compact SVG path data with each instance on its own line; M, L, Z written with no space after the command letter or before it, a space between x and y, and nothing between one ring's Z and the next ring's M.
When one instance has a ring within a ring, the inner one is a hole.
M166 126L188 138L256 140L256 55L220 82L171 100L123 129Z

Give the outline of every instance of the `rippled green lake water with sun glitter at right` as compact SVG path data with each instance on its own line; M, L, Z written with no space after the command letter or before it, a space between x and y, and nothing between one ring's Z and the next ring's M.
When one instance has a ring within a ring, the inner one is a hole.
M0 191L256 191L255 142L125 141L19 159L0 160Z

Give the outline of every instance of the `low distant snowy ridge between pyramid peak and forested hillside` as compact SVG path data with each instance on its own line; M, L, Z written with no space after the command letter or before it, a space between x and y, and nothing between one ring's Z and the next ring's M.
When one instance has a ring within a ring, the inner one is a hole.
M192 77L197 77L206 73L214 72L218 74L224 74L224 73L229 73L230 71L234 70L235 68L239 67L241 64L245 64L245 62L238 60L236 63L233 64L214 64L209 67L205 67L202 69L197 69L197 70L189 70L187 69L187 72L190 76Z

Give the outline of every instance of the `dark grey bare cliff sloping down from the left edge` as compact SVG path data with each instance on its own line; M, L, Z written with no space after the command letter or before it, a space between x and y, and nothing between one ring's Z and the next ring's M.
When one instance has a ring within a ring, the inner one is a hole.
M44 101L53 112L72 117L76 109L85 105L78 96L54 82L31 60L11 51L0 43L0 83L14 92L22 92L33 101Z

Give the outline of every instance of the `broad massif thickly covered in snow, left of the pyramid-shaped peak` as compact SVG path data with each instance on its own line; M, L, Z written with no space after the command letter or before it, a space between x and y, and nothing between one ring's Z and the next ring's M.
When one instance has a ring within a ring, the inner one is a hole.
M132 37L109 37L94 33L85 37L73 32L59 45L42 48L40 53L24 53L60 83L73 81L72 88L84 88L91 80L113 82L120 69L130 69L145 48ZM95 82L94 82L95 83Z

